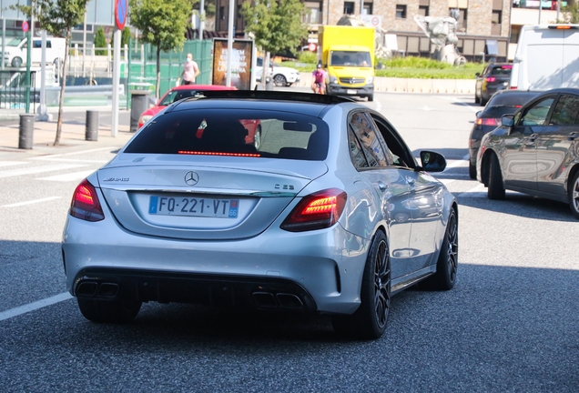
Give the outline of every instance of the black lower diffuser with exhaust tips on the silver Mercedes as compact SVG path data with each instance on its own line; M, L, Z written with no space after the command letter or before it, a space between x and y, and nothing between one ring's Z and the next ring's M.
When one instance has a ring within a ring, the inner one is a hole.
M76 297L129 297L159 303L315 311L316 302L299 284L282 278L216 276L159 270L88 267L76 274Z

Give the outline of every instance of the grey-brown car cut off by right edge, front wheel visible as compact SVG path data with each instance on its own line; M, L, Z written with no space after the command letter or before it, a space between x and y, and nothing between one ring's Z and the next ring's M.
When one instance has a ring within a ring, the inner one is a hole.
M490 199L505 189L568 203L579 218L579 89L536 96L483 136L479 181Z

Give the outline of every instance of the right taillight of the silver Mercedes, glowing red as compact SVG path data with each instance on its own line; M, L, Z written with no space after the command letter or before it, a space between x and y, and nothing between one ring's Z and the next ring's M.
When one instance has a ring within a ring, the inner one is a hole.
M280 228L290 232L303 232L331 227L340 218L347 199L346 192L339 188L329 188L304 196Z

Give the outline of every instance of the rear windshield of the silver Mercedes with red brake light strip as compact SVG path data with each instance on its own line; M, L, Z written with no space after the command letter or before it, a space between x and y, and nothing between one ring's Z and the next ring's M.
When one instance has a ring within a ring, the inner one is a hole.
M328 126L318 117L273 111L192 109L150 121L125 153L324 160Z

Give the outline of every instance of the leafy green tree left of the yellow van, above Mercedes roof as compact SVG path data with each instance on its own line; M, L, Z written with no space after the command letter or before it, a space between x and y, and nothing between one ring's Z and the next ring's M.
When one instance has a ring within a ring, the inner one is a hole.
M264 72L269 65L269 53L289 49L295 53L301 40L308 36L308 29L301 23L308 12L300 0L254 0L241 5L241 15L247 25L246 33L255 36L256 45L266 52ZM265 77L261 78L265 84Z

